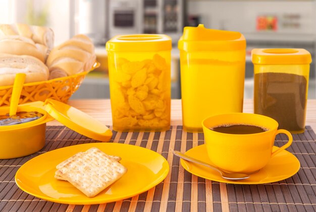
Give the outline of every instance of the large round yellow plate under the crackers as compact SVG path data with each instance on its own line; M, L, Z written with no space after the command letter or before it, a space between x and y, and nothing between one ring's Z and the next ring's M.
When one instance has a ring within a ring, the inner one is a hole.
M67 181L54 178L56 165L91 147L122 158L128 169L118 181L89 198ZM26 162L17 171L15 182L23 191L52 202L65 204L100 204L126 199L149 190L169 172L166 159L151 150L117 143L90 143L50 151Z

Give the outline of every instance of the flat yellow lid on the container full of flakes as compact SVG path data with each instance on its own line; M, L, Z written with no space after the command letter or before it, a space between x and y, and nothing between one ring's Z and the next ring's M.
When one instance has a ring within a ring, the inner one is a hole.
M108 51L138 52L171 50L171 38L162 34L118 35L106 44Z

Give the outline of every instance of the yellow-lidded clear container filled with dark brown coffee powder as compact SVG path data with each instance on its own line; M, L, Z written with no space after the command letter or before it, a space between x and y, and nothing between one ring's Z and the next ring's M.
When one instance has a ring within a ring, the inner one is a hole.
M311 56L305 49L253 49L254 113L304 132Z

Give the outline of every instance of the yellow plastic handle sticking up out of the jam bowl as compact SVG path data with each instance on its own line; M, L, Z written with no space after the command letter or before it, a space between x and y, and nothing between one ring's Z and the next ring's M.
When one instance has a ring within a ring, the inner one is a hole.
M23 73L16 74L14 84L13 84L11 101L10 101L10 111L9 111L10 116L15 115L17 113L25 77L26 75Z

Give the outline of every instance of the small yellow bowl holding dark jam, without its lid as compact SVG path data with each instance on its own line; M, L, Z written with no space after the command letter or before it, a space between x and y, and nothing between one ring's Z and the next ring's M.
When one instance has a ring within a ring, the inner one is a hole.
M9 107L0 107L0 115L9 113ZM45 145L46 122L53 120L43 109L18 106L17 112L36 111L43 114L34 121L0 126L0 159L19 158L36 153Z

